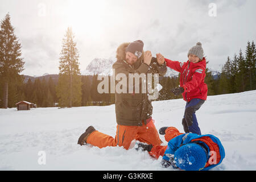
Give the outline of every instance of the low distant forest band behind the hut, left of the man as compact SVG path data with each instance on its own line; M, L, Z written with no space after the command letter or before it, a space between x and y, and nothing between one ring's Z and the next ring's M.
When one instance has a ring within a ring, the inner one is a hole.
M58 76L59 77L59 76ZM100 94L97 92L97 75L79 76L81 79L81 97L79 104L73 106L92 106L92 105L110 105L114 104L114 94ZM27 82L20 82L15 89L9 90L8 107L15 107L19 101L28 101L36 104L37 107L69 107L69 99L67 105L60 105L60 98L57 97L57 85L59 81L54 81L51 76L48 78L35 78L34 81L28 78ZM2 105L1 105L2 107Z

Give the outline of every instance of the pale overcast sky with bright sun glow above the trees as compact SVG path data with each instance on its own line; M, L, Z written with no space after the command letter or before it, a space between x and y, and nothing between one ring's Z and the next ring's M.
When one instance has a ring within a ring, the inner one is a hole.
M217 6L216 16L210 16L210 3ZM220 70L228 56L256 41L255 7L255 0L0 0L0 19L11 15L24 75L59 73L68 27L75 34L81 71L94 58L115 57L119 44L138 39L144 51L179 61L187 61L189 48L201 42L208 67Z

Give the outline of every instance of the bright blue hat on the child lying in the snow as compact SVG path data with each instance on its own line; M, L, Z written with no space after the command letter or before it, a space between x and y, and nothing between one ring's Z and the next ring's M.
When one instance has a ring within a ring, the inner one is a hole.
M205 148L197 143L188 143L179 147L174 153L174 160L180 169L186 171L199 171L208 161Z

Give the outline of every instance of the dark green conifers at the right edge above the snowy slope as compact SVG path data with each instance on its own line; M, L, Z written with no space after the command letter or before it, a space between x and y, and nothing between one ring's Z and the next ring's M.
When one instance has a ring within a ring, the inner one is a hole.
M240 49L233 59L228 56L217 84L218 94L245 92L256 89L256 49L254 41L247 42L245 53Z

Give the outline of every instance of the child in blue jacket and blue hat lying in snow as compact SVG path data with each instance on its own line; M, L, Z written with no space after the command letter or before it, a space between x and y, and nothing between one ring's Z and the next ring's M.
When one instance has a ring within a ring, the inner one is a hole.
M225 158L224 147L213 135L183 134L175 127L162 127L159 133L165 134L168 146L137 143L136 149L148 151L156 159L163 156L163 168L172 166L186 171L206 171Z

